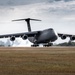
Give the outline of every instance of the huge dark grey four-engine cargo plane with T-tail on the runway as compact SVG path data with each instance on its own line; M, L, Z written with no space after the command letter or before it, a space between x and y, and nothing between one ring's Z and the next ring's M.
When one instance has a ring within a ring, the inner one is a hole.
M33 47L37 47L39 46L39 44L43 44L43 46L52 46L52 42L56 41L58 39L58 36L61 37L61 39L66 39L67 37L69 37L70 40L75 40L75 35L56 33L53 28L48 28L41 31L32 31L30 26L30 20L41 21L38 19L26 18L12 21L22 21L22 20L26 21L28 26L28 32L0 35L0 38L10 37L11 41L15 41L16 37L21 37L23 40L28 39L30 42L32 42L33 45L31 46Z

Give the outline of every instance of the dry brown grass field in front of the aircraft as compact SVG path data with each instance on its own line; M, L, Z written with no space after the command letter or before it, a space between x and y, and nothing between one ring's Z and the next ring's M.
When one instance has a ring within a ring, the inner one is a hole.
M0 75L75 75L75 47L0 47Z

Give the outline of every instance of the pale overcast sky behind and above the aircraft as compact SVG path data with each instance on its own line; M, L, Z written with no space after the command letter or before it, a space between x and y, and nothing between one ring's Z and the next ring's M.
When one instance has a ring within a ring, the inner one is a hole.
M0 34L27 31L24 21L11 20L29 17L42 20L31 22L33 31L53 28L75 34L75 0L0 0Z

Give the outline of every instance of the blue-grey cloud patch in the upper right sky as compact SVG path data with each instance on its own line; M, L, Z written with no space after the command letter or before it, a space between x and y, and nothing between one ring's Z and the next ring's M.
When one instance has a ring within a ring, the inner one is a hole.
M68 2L65 2L68 1ZM46 9L42 9L46 14L52 15L75 15L75 1L70 0L48 3Z

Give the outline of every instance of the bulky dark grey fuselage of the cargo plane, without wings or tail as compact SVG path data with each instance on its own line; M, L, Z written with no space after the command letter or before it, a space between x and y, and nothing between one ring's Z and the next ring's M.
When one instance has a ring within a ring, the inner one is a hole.
M57 40L57 35L52 28L49 28L43 31L39 31L37 35L35 35L34 37L29 37L28 39L30 42L32 43L35 42L37 44L49 43Z

